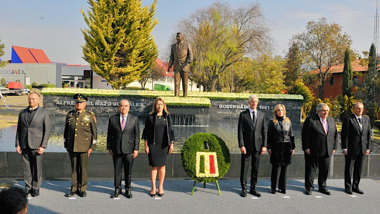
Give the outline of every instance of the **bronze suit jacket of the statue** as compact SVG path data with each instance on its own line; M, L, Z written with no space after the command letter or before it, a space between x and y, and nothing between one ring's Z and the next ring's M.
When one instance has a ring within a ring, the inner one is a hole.
M170 49L169 67L174 65L174 71L177 71L178 67L184 72L190 71L190 65L193 61L193 50L188 42L182 41L181 48L177 50L177 43L173 44Z

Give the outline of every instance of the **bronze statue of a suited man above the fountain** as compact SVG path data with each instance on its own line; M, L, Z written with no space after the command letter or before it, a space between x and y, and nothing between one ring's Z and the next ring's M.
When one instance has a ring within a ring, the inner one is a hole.
M190 63L193 61L193 51L188 42L184 41L185 35L177 33L177 43L170 49L168 72L174 65L174 96L179 96L180 82L182 79L182 90L187 97L187 82L189 79Z

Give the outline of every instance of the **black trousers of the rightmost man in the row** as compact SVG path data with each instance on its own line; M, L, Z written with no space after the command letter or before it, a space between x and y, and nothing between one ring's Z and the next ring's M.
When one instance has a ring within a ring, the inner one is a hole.
M352 180L352 189L356 189L359 187L364 155L362 151L360 151L358 155L347 154L344 156L344 159L344 187L346 189L351 189L351 173L353 168L354 172Z

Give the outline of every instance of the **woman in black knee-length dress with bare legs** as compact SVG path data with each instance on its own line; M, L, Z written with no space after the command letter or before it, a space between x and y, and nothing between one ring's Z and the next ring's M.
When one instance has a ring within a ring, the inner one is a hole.
M150 167L150 178L152 180L152 190L150 196L156 195L156 177L158 185L158 196L164 194L163 183L165 179L165 165L168 154L173 151L174 131L170 113L166 109L165 101L157 98L154 101L152 112L145 121L145 128L142 132L142 139L145 142L145 153L148 155Z

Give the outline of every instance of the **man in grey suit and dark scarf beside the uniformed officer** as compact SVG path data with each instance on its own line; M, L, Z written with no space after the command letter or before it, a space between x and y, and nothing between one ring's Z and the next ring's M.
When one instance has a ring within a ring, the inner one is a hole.
M39 107L40 94L30 93L29 106L20 111L16 132L16 151L24 162L25 193L40 195L42 153L49 141L51 125L49 111Z

